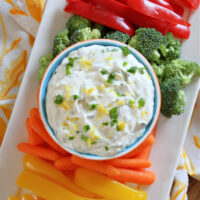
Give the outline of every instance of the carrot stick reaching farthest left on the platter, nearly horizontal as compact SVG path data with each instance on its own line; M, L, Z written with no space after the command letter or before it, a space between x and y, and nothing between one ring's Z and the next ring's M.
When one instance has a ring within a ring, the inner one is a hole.
M24 153L32 154L51 161L56 161L60 158L60 155L56 151L41 146L32 146L28 143L20 143L17 148Z

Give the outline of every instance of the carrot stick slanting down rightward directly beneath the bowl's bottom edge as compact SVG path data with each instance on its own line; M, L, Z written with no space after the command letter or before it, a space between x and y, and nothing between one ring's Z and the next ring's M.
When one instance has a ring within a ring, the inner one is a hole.
M107 174L110 176L119 175L119 170L117 168L107 164L104 161L86 160L77 156L72 156L72 163L85 167L87 169L91 169L96 172L100 172L102 174Z

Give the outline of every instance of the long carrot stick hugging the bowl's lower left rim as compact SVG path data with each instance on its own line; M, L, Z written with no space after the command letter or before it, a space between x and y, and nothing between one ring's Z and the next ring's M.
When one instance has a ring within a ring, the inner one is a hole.
M31 127L39 134L39 136L47 142L50 146L52 146L56 151L58 151L62 155L68 155L68 153L62 149L58 144L56 144L53 139L49 136L47 131L45 130L40 118L35 114L30 117L30 125Z

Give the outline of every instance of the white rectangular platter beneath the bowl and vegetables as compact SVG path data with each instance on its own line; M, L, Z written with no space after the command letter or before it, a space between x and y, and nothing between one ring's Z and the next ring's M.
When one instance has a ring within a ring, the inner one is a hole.
M6 136L0 149L0 200L6 200L17 190L15 181L22 171L23 156L17 150L17 144L27 141L25 120L30 108L37 106L38 60L41 55L51 50L55 34L65 27L70 16L63 11L65 4L65 0L48 0L46 5ZM200 10L191 16L190 22L192 24L191 37L183 43L182 57L200 64ZM187 105L184 114L171 119L163 116L159 118L156 142L150 155L151 170L156 173L157 179L153 185L146 188L149 200L168 199L198 88L198 79L185 88Z

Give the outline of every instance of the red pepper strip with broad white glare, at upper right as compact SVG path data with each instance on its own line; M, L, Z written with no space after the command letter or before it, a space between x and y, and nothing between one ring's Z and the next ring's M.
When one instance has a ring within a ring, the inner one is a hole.
M187 22L173 11L150 2L149 0L128 0L128 6L130 6L133 10L137 10L144 15L151 16L156 19L163 19L172 24L187 25Z

